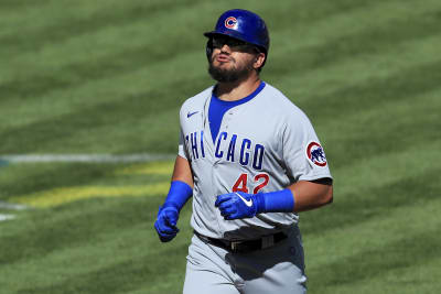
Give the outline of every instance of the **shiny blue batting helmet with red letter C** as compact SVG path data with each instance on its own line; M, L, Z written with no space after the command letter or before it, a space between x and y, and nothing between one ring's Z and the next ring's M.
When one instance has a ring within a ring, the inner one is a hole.
M224 12L217 20L214 31L204 33L209 41L216 34L227 35L252 44L268 56L269 34L267 25L259 15L251 11L233 9ZM207 43L208 58L211 58L213 51L209 41Z

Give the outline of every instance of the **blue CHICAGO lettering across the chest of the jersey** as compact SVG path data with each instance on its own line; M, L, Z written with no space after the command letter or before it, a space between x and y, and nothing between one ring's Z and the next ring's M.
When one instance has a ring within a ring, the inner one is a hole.
M192 132L185 135L186 148L193 160L205 159L204 131ZM238 140L237 134L229 135L222 132L214 144L215 159L228 162L238 162L255 170L261 170L265 155L265 146L254 143L250 139Z

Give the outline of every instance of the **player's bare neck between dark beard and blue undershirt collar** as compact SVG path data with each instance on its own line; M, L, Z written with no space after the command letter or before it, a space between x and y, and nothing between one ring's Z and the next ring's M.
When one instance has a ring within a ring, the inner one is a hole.
M260 78L257 75L250 75L245 80L235 83L218 83L215 95L224 101L236 101L252 94L260 85Z

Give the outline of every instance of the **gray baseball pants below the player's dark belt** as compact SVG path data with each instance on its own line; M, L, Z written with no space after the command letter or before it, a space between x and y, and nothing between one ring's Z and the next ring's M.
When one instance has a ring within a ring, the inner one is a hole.
M299 229L279 243L233 253L196 235L189 247L184 294L304 294L303 247Z

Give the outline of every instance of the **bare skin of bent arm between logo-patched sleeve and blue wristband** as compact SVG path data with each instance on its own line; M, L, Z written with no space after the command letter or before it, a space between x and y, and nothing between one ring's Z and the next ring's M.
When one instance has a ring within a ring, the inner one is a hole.
M294 211L319 208L333 200L332 179L300 181L288 187L294 197Z

